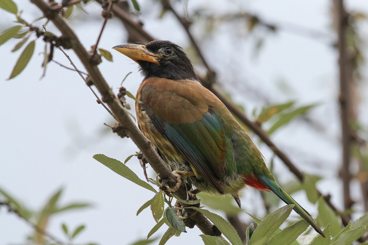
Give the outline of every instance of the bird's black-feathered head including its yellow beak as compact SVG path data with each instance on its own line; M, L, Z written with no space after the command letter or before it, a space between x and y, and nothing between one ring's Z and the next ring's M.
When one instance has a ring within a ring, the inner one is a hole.
M155 40L146 45L123 44L113 48L137 62L145 79L197 79L183 48L170 41Z

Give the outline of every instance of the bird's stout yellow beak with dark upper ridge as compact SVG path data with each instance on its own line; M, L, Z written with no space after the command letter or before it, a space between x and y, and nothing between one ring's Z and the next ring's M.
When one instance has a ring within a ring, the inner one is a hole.
M146 46L140 44L122 44L113 47L114 50L127 55L129 58L138 62L138 60L148 61L153 64L159 64L160 55L151 53Z

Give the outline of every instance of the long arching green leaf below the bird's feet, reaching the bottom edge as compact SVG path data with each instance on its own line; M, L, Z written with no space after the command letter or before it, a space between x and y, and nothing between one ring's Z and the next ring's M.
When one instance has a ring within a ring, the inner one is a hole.
M241 245L241 239L229 222L227 222L223 217L216 215L215 213L211 213L206 209L196 208L196 207L186 207L197 210L204 214L212 223L222 232L222 234L230 241L232 245Z

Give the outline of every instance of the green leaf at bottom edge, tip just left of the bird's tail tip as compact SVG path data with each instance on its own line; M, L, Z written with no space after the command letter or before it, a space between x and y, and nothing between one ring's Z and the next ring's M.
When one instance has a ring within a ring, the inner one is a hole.
M280 233L274 235L267 245L290 245L292 244L305 230L307 230L309 224L305 220L299 220L298 222L286 227Z

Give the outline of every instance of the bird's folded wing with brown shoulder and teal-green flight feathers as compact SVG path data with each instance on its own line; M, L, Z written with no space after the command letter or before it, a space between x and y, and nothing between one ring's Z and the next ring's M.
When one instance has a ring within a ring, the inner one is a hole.
M142 102L159 133L184 156L195 173L223 194L226 143L215 111L208 105L193 105L175 93L150 87L142 90ZM159 150L165 154L165 149Z

